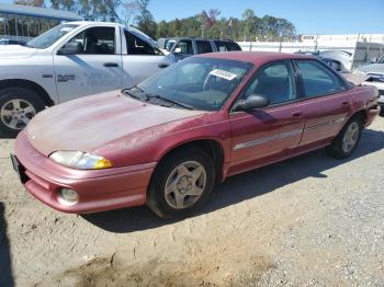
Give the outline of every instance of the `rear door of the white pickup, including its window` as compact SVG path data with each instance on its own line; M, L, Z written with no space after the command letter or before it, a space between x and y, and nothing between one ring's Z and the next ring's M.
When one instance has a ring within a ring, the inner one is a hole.
M132 88L171 64L170 56L144 38L126 30L123 33L123 88Z

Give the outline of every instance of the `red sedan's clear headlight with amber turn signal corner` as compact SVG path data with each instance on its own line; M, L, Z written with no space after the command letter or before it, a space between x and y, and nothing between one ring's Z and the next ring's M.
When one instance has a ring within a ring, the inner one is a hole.
M112 162L103 157L81 151L56 151L49 158L63 165L79 170L101 170L112 168Z

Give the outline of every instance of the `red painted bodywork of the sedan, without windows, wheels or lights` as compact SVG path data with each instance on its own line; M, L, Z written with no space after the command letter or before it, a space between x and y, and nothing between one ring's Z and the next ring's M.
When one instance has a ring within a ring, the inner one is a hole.
M200 139L217 141L224 151L223 180L331 142L357 112L365 125L379 114L377 90L355 87L316 99L303 99L251 113L230 113L251 76L272 60L310 58L275 53L219 53L199 57L252 62L255 69L218 112L201 112L144 104L120 92L82 97L38 114L15 141L15 154L29 181L25 188L43 203L66 213L92 213L145 204L147 186L157 163L172 149ZM347 103L347 104L346 104ZM300 114L300 116L295 114ZM341 120L342 119L342 120ZM327 123L332 123L327 125ZM247 141L298 130L266 145L234 150ZM103 156L112 169L80 171L47 158L57 150L80 150ZM78 204L57 199L63 187L76 190Z

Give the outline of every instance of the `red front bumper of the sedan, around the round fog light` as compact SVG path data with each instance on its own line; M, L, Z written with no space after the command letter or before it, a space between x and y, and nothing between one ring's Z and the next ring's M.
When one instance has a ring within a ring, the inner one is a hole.
M39 153L21 133L15 140L15 158L20 162L21 181L25 190L44 204L69 214L88 214L146 202L146 191L156 163L97 171L63 167ZM58 192L70 188L79 200L66 205Z

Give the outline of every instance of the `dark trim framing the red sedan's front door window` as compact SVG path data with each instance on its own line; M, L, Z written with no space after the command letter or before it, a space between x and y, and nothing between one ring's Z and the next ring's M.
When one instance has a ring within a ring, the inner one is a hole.
M247 113L245 111L233 111L234 106L236 105L236 103L238 101L240 101L240 97L244 95L244 93L247 91L247 89L252 84L253 80L256 77L258 77L258 74L260 73L260 71L262 69L264 69L266 67L268 66L271 66L271 65L275 65L275 64L279 64L279 62L283 62L283 64L289 64L291 66L291 71L292 71L292 76L294 77L294 83L295 83L295 92L296 92L296 97L294 100L290 100L290 101L286 101L286 102L282 102L282 103L275 103L275 104L271 104L271 105L268 105L266 107L262 107L262 108L258 108L260 111L266 111L266 110L269 110L269 108L274 108L274 107L279 107L279 106L284 106L284 105L289 105L289 104L292 104L292 103L296 103L296 102L300 102L300 101L303 101L303 97L301 96L302 94L302 87L298 84L300 81L298 81L298 78L297 78L297 73L296 73L296 70L295 70L295 66L294 66L294 62L292 62L291 59L282 59L282 60L273 60L273 61L269 61L267 64L263 64L262 66L260 66L255 72L251 76L251 78L249 79L248 83L242 88L242 90L238 93L236 100L233 102L233 104L230 105L229 107L229 114L240 114L240 113Z

